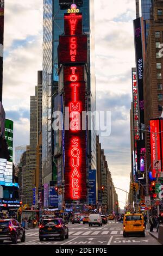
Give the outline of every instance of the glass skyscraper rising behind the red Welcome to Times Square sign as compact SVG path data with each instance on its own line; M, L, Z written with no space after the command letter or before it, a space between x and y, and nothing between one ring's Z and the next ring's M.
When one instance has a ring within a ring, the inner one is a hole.
M67 2L67 1L62 1ZM70 1L73 3L73 1ZM83 32L88 35L89 45L89 77L88 94L89 110L96 110L95 84L95 41L94 41L94 0L80 2L83 14ZM58 44L59 35L64 33L64 14L67 6L60 5L59 0L43 0L43 92L42 92L42 182L53 180L54 172L54 132L52 130L52 113L54 98L58 94ZM89 132L87 168L96 169L96 131L92 120L92 131Z

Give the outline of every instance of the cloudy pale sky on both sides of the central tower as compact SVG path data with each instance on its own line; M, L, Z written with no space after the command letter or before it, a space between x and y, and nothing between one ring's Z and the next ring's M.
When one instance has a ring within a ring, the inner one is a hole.
M29 144L30 95L42 70L43 0L5 1L3 106L14 120L14 147ZM97 110L111 112L100 137L116 187L129 191L131 68L135 66L135 0L95 0ZM116 189L121 208L126 193Z

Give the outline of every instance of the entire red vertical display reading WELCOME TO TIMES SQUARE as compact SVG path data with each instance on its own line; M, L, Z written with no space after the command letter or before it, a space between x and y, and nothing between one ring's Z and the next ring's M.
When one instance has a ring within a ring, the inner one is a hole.
M74 14L68 19L65 15L67 35L60 36L58 48L59 63L64 64L64 107L68 113L68 120L64 123L66 202L86 202L87 197L86 131L82 130L82 121L86 122L82 119L82 112L86 111L84 64L87 63L87 35L82 34L81 20L79 23L75 21L77 16Z

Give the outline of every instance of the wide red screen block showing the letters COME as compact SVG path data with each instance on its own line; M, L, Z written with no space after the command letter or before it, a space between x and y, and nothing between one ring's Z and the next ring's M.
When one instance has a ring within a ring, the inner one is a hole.
M87 63L87 35L59 37L59 64Z

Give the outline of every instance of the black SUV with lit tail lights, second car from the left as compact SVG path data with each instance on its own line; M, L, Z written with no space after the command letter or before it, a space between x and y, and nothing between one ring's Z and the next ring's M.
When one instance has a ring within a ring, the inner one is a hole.
M45 238L59 237L61 240L68 238L68 227L62 218L48 218L44 219L39 227L39 239L43 241Z

